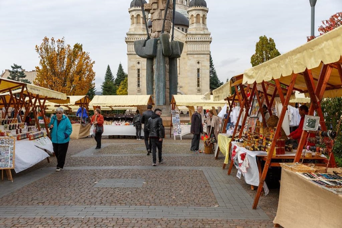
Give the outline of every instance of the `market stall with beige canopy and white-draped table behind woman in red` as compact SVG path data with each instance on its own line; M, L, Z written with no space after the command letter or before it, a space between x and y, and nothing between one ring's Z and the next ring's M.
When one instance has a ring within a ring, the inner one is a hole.
M93 106L94 110L96 108L101 110L127 110L134 108L135 110L139 110L142 114L147 110L148 104L154 104L151 95L97 95L90 101L89 106ZM104 115L105 126L102 135L135 136L133 115L134 113L110 114L108 116ZM143 126L141 134L142 136L144 135Z

